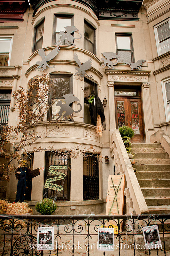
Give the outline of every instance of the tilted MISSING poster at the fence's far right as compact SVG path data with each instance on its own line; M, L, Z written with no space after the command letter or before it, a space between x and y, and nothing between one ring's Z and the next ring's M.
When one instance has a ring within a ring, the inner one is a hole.
M158 225L143 227L142 230L146 249L156 249L162 247Z

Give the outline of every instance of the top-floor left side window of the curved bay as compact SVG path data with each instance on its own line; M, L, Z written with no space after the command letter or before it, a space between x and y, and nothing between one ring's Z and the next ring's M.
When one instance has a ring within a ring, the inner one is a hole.
M43 33L44 33L44 20L42 20L35 27L33 52L42 48L42 46L43 46Z

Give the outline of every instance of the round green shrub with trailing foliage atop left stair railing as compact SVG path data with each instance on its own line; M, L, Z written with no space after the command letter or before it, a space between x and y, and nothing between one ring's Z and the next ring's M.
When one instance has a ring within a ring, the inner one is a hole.
M125 145L126 151L131 152L131 138L134 136L134 131L129 126L122 126L119 128L120 135L122 137L123 143Z

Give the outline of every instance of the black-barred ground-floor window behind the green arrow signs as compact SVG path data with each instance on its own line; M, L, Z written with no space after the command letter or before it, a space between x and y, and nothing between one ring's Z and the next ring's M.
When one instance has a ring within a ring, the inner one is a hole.
M71 154L71 152L70 152ZM61 191L53 190L50 188L44 188L43 198L52 198L55 201L69 201L70 200L70 172L71 172L71 158L70 154L61 152L46 152L45 158L45 175L44 175L44 185L47 179L61 177L64 174L64 179L55 180L50 183L57 184L63 188ZM66 166L64 169L57 169L56 171L61 173L60 175L50 173L49 166ZM49 184L50 184L49 183Z

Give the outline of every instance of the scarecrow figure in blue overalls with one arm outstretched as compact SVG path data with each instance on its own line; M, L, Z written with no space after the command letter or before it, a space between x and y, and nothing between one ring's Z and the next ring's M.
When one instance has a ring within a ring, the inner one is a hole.
M18 180L18 185L17 185L17 195L16 195L16 199L14 203L19 202L24 202L24 198L25 198L25 193L26 193L26 179L27 176L34 178L38 175L40 175L40 170L44 170L44 167L41 168L37 168L35 170L30 170L27 167L27 157L24 156L23 158L21 158L21 160L19 161L19 166L15 171L15 178ZM13 203L13 204L14 204Z

